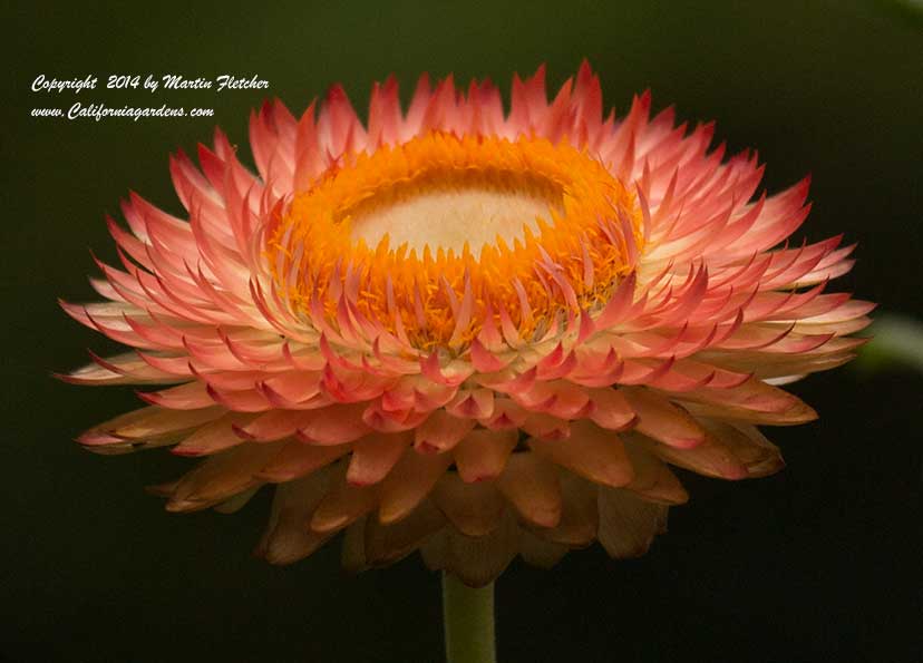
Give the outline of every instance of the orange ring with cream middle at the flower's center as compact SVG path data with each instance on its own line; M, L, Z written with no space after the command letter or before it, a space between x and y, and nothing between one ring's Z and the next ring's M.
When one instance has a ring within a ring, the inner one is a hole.
M488 315L528 339L604 301L641 224L634 195L566 143L429 133L298 194L266 259L305 315L320 304L336 324L346 296L416 347L458 350Z

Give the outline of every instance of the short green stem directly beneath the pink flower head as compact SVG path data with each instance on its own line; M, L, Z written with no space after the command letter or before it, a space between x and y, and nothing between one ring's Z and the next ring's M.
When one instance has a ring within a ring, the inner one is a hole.
M448 663L496 663L494 583L475 589L444 573L443 620Z

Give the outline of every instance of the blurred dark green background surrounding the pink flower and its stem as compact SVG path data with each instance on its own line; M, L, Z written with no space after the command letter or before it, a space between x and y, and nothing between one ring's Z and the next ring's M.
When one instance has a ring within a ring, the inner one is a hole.
M81 92L111 105L213 106L214 119L40 120L69 106L39 74L256 74L302 109L334 81L365 108L370 82L424 71L462 81L547 61L557 86L587 57L608 105L652 88L657 108L715 119L757 147L770 191L813 173L799 234L844 232L841 280L920 315L923 21L872 2L269 2L8 7L3 77L4 423L0 656L10 661L438 661L438 578L417 557L346 577L328 547L289 568L249 553L263 496L236 516L168 515L142 486L186 462L101 458L71 439L136 406L130 390L69 387L52 370L111 344L57 296L91 299L103 213L134 188L178 211L167 154L220 124L245 145L263 92ZM242 152L246 153L245 148ZM247 155L249 158L249 155ZM770 431L788 459L746 484L689 478L688 506L643 559L597 547L552 572L514 563L497 586L501 660L919 661L920 377L841 369L794 389L818 422Z

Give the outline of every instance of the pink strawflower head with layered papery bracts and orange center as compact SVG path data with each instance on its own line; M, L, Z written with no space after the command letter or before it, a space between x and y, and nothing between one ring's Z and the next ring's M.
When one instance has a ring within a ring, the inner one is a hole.
M389 79L367 125L340 87L317 119L266 103L259 175L220 130L201 170L178 153L188 221L132 194L107 301L62 304L132 348L66 380L169 387L79 441L205 457L155 488L172 511L275 485L276 564L340 530L348 567L420 549L473 585L642 554L687 500L670 466L781 468L756 427L816 415L778 386L851 359L873 308L824 293L852 246L786 242L807 181L755 198L755 154L650 107L603 117L586 64L551 103L514 77L508 114L426 76L405 113Z

